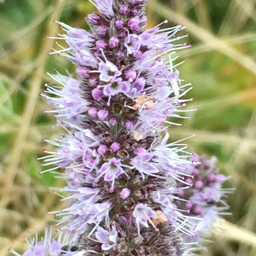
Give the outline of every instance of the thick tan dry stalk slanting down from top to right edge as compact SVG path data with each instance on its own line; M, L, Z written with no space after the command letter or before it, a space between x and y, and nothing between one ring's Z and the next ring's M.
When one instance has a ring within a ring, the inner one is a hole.
M168 6L163 6L156 1L149 2L148 8L157 10L164 17L174 21L175 23L184 24L184 26L186 26L187 29L192 32L193 35L195 35L195 37L199 38L209 47L214 47L219 52L229 56L256 76L256 63L250 57L243 55L236 49L233 49L227 43L215 37L211 32L193 23L185 16L174 12L172 9L168 8Z

